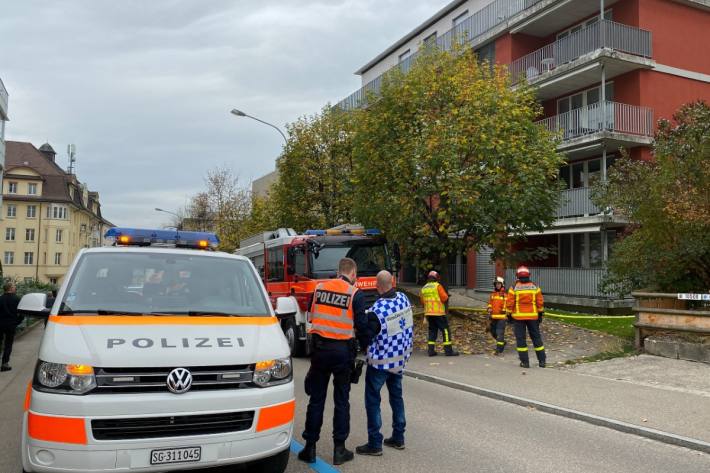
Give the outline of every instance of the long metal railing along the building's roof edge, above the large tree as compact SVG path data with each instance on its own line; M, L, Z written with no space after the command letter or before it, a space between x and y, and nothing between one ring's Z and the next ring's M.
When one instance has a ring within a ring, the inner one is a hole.
M540 1L542 0L495 0L437 37L436 46L444 51L451 51L454 44L475 43L480 36ZM408 72L420 51L421 49L341 100L338 106L344 110L352 110L367 105L367 96L370 93L379 94L384 75L395 68Z

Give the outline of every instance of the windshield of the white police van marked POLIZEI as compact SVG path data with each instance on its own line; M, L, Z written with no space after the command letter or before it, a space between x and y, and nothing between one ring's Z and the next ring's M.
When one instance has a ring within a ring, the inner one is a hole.
M195 253L87 253L59 313L271 315L249 262Z

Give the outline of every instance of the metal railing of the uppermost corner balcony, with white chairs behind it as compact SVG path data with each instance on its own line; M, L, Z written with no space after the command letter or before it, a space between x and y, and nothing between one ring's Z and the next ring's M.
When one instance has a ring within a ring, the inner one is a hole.
M526 78L532 81L601 48L650 58L651 43L650 31L602 20L516 59L510 64L510 74L514 83Z

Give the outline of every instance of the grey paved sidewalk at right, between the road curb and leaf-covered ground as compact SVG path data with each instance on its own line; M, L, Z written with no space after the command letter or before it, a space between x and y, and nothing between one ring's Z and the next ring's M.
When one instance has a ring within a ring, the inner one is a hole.
M521 369L514 353L429 358L417 352L407 374L417 373L710 442L710 365L703 363L641 355L571 369Z

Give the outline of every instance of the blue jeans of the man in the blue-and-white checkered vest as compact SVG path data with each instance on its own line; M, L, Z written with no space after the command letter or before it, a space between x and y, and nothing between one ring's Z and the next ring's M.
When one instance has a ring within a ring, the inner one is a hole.
M367 444L372 448L382 448L380 392L384 384L387 384L392 408L392 439L404 443L404 428L407 420L404 417L402 375L368 366L365 373L365 410L367 411Z

